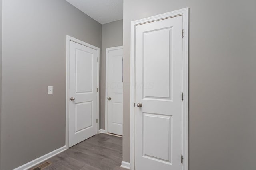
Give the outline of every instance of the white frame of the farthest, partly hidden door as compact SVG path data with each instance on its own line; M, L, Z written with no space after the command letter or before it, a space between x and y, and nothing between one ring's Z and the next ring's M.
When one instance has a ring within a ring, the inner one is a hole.
M123 49L124 46L106 48L106 93L105 93L105 133L108 133L108 51Z

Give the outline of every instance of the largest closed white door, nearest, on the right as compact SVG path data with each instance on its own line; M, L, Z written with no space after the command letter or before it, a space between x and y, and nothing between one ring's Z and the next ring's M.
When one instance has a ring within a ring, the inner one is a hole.
M135 169L181 170L182 16L135 28Z

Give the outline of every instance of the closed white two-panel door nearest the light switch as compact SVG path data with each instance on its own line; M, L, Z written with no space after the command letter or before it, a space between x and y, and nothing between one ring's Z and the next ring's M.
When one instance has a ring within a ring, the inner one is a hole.
M98 51L70 41L69 147L97 133Z

